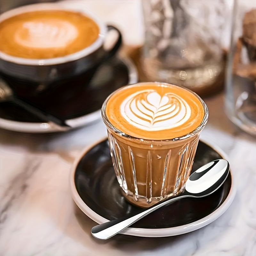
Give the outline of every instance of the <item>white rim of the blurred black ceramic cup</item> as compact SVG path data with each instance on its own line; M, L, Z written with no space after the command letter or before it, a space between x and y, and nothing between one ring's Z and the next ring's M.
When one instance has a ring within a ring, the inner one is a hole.
M19 15L21 13L33 12L37 10L39 11L64 10L69 12L79 12L84 16L87 16L90 19L92 19L99 26L99 29L100 29L99 36L96 39L96 41L93 42L88 47L78 52L74 52L72 54L68 54L62 57L49 58L49 59L29 59L29 58L15 57L0 51L0 60L8 61L8 62L19 64L19 65L32 65L32 66L57 65L57 64L62 64L62 63L66 63L66 62L70 62L70 61L74 61L74 60L78 60L83 57L86 57L91 53L95 52L97 49L99 49L103 45L104 37L107 31L107 26L105 25L105 23L96 14L94 14L89 10L71 9L67 5L61 4L61 3L36 3L36 4L28 4L28 5L20 6L0 14L0 22L8 18L11 18L13 16Z

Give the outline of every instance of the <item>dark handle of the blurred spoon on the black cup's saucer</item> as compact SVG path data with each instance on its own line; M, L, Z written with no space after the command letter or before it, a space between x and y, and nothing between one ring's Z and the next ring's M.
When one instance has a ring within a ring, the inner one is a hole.
M60 130L63 130L63 128L65 128L64 130L67 130L67 128L71 128L65 120L61 120L60 118L53 116L52 114L46 113L45 111L36 108L23 100L20 100L16 96L12 96L11 99L12 102L27 110L29 113L39 117L40 119L42 119L42 121L52 122L53 124L55 124L55 126L59 126Z

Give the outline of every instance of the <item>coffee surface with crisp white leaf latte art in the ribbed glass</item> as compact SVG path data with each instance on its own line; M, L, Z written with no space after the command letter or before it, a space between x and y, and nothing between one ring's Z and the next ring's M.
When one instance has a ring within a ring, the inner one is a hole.
M167 140L194 131L204 119L202 102L186 89L161 83L123 87L109 98L106 115L130 136Z

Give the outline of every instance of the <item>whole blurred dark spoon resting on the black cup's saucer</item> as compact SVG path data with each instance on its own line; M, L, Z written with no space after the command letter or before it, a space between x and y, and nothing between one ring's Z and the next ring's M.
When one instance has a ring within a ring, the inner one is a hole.
M53 116L52 114L46 113L45 111L38 109L30 104L20 100L16 97L9 87L3 80L0 79L0 102L1 101L12 101L21 108L27 110L29 113L39 117L42 121L46 121L50 126L58 128L60 131L66 131L71 128L65 120Z

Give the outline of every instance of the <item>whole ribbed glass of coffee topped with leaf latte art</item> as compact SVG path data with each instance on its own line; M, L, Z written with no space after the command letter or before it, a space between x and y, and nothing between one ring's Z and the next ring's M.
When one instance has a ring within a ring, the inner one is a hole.
M149 207L184 190L208 120L199 96L172 84L138 83L113 92L101 114L129 202Z

